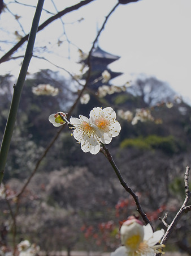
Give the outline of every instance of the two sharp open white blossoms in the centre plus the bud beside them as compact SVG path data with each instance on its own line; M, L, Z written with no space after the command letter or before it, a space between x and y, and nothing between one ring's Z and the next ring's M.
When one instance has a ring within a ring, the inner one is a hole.
M66 114L58 112L49 116L49 121L54 126L65 123ZM121 126L116 120L116 113L111 107L95 107L90 111L89 118L79 115L79 118L71 117L73 137L80 143L83 152L97 154L101 148L101 143L109 144L112 137L119 135Z

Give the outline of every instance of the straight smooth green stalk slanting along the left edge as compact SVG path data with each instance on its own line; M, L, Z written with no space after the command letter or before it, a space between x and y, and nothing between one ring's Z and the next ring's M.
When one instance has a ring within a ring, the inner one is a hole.
M3 140L2 140L1 149L0 149L0 184L3 180L4 173L5 173L5 166L6 166L8 151L10 148L12 133L15 127L15 121L18 113L20 97L23 90L24 81L27 75L28 66L32 58L34 41L36 38L38 23L40 20L43 5L44 5L44 0L38 0L36 12L34 14L32 26L31 26L31 32L29 35L28 43L27 43L27 48L23 58L23 64L21 65L18 81L16 82L16 85L14 85L14 93L12 95L10 111L8 114L5 132L3 135Z

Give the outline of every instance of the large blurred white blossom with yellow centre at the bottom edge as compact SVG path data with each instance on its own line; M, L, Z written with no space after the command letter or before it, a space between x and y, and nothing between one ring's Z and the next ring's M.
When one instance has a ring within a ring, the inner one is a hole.
M134 217L125 221L120 229L121 243L111 256L153 256L162 253L164 245L156 245L164 236L164 230L153 232L150 224L143 226Z

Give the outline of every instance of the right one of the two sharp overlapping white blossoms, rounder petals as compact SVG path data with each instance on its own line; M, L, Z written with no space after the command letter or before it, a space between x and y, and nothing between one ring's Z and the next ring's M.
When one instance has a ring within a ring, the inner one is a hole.
M109 144L112 137L119 135L121 125L116 119L116 113L111 107L100 108L95 107L90 111L90 120L101 133L100 140L103 144Z

